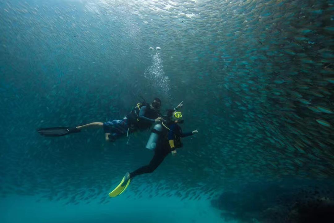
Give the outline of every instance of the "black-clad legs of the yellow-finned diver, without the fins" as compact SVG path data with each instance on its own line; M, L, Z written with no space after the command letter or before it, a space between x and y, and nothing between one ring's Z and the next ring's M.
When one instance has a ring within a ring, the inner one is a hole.
M142 166L139 169L133 171L132 173L129 174L128 177L133 178L140 174L152 173L160 165L160 163L162 163L162 161L165 159L168 153L169 151L163 150L161 148L156 148L154 150L154 156L151 162L148 165Z

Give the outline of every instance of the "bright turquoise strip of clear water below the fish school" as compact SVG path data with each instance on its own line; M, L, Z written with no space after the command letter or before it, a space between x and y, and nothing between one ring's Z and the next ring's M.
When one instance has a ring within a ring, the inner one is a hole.
M223 222L209 202L180 201L177 198L126 200L108 204L63 205L36 202L36 197L11 196L1 200L1 222Z

